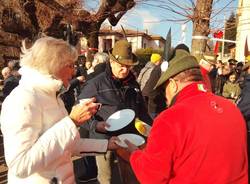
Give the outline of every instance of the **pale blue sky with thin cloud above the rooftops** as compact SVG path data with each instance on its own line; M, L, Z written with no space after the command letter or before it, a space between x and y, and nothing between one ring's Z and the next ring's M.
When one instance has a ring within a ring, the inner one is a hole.
M138 0L137 0L138 1ZM95 5L93 4L95 2ZM168 2L168 3L167 3ZM191 7L190 0L172 0L172 2L176 3L177 6ZM92 8L98 5L98 1L91 2ZM123 25L124 28L134 29L134 30L148 30L150 34L158 34L162 37L166 37L169 28L172 30L172 46L180 43L181 38L181 26L184 22L181 21L164 21L166 19L183 19L182 16L174 14L171 11L167 11L164 8L156 7L159 5L170 5L169 0L147 0L141 1L137 3L137 5L129 10L120 20L119 24L116 28L121 28L120 25ZM223 7L227 7L222 9ZM228 18L232 11L236 11L236 7L238 5L238 0L214 0L213 12L217 14L213 17L211 26L213 29L223 28L223 19L224 16ZM177 6L172 5L171 7L175 7L174 10L179 11ZM161 6L162 7L162 6ZM213 15L212 15L213 16ZM103 25L109 25L106 21ZM192 39L192 22L187 23L186 29L186 44L191 46Z

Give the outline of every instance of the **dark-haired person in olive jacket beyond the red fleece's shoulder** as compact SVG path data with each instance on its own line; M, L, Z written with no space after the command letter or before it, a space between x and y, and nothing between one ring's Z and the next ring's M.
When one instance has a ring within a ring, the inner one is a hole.
M222 96L230 99L232 102L236 102L239 98L241 89L239 83L237 83L237 74L232 72L229 74L228 80L223 86Z

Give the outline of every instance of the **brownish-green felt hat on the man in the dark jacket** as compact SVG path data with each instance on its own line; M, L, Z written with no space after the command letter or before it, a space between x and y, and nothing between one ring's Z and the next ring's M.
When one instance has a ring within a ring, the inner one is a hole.
M139 62L135 54L132 53L131 44L127 40L119 40L109 51L112 60L123 65L137 65Z

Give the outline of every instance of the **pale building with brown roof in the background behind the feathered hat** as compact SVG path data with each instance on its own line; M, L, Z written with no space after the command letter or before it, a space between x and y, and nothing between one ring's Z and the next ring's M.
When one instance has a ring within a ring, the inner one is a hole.
M141 48L163 49L165 39L158 35L149 35L148 32L140 32L136 30L125 30L128 42L132 45L132 51L135 52ZM101 29L99 32L99 46L98 51L108 51L115 42L123 39L122 30Z

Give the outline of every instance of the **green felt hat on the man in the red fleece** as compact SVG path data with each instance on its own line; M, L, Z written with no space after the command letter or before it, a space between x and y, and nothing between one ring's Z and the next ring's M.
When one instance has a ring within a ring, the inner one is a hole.
M169 61L168 69L161 74L154 89L161 86L171 77L191 68L200 68L197 59L191 56L187 51L177 49L175 56Z

